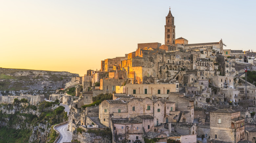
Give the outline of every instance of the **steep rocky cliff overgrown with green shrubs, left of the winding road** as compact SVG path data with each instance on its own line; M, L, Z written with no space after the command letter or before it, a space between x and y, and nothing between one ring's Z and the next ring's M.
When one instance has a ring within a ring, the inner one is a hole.
M50 102L0 104L0 143L53 142L53 125L68 119L63 109Z

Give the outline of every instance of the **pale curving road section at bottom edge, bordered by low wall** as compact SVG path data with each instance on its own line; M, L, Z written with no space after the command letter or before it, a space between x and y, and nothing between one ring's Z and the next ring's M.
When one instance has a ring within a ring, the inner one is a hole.
M70 131L67 131L68 130L68 123L64 124L64 125L61 125L61 126L58 126L56 128L56 130L59 131L59 133L60 133L60 138L57 141L57 143L71 142L72 133Z

